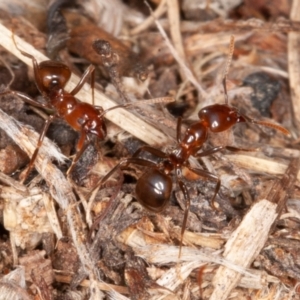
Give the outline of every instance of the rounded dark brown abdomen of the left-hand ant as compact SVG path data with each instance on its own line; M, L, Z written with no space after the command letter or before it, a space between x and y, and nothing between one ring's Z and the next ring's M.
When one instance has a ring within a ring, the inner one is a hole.
M71 77L71 71L63 63L47 60L39 64L35 76L40 91L49 93L63 89Z

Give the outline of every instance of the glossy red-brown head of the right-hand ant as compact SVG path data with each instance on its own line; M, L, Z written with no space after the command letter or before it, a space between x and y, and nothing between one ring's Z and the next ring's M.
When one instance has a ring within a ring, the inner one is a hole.
M246 122L239 112L228 105L214 104L202 108L198 113L200 122L212 132L222 132L237 123Z

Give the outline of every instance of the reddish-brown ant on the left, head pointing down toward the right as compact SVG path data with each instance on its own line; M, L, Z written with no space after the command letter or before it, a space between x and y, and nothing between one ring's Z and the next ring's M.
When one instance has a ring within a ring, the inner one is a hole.
M67 92L65 90L65 86L71 77L71 70L68 66L53 60L46 60L38 63L35 57L18 47L14 38L14 34L12 35L12 39L16 49L18 49L22 55L32 60L36 86L42 96L46 99L47 103L38 103L26 94L17 91L4 91L0 93L0 96L6 94L17 95L22 98L23 101L35 107L54 110L54 114L50 115L45 121L45 125L39 136L36 149L31 157L27 171L21 180L22 183L26 180L31 169L33 168L34 161L42 145L47 129L55 118L64 119L75 131L80 133L80 137L76 145L75 157L73 158L72 164L67 171L67 175L69 175L87 146L87 143L85 142L86 140L89 140L89 134L97 136L99 140L103 140L106 137L106 125L103 117L107 112L116 108L127 108L133 105L140 105L145 102L170 102L170 100L167 98L158 98L116 105L106 110L103 110L102 107L94 107L91 104L81 102L79 99L75 98L75 95L82 89L84 83L87 81L88 76L91 76L92 98L94 100L95 68L93 65L90 65L86 69L75 88L71 92Z

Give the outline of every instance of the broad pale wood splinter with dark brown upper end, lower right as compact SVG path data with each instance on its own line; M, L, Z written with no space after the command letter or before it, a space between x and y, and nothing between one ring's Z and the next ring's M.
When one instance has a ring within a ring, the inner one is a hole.
M274 221L280 215L296 182L299 158L291 160L282 179L272 185L266 199L256 202L225 245L223 256L236 266L248 268L264 247ZM237 286L241 274L219 267L213 279L215 287L210 300L226 300Z

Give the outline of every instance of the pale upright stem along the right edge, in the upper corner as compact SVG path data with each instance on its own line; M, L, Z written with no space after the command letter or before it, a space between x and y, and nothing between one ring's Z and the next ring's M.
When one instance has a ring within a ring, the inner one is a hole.
M293 0L290 18L300 21L300 0ZM300 33L288 33L288 69L290 75L290 89L296 126L300 128ZM298 135L299 136L299 135Z

